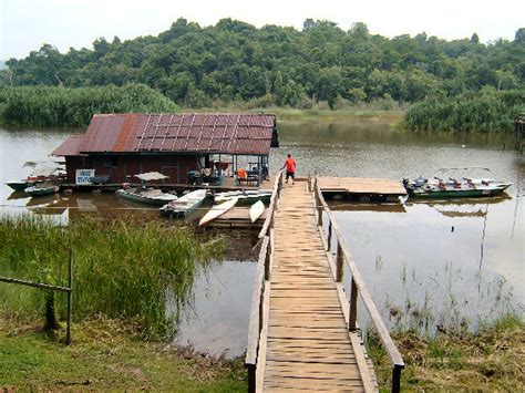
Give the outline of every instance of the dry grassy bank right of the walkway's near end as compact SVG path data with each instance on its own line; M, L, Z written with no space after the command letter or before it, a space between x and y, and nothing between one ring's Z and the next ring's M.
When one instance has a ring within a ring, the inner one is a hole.
M525 323L507 316L476 333L451 331L434 338L412 332L392 333L406 364L404 391L512 391L525 390ZM391 379L387 353L374 335L369 353L382 391Z

